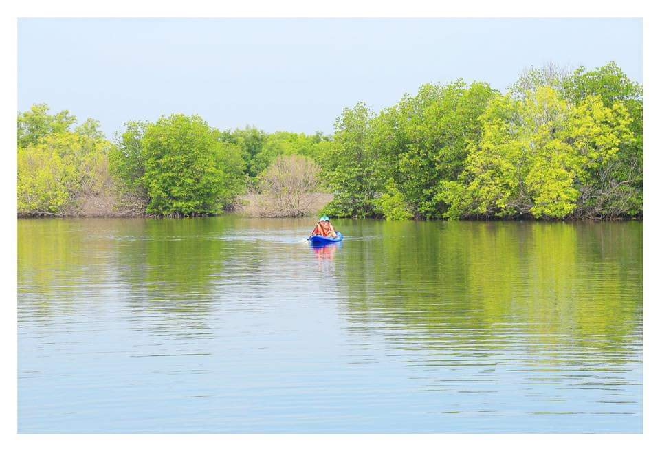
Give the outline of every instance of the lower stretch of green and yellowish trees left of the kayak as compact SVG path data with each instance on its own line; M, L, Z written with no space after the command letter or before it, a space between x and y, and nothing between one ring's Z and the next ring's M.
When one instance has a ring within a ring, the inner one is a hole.
M76 127L69 111L49 111L18 116L19 216L219 214L248 190L272 190L283 164L317 167L312 157L330 145L322 133L219 131L181 114L128 122L111 142L98 121Z

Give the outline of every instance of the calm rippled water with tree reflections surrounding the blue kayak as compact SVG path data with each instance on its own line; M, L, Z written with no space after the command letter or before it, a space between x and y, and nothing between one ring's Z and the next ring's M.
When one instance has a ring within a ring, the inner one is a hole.
M641 432L642 224L20 220L19 432Z

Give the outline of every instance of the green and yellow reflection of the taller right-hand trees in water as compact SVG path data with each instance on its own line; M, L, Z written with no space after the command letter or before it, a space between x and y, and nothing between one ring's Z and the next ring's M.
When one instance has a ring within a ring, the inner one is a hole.
M387 239L351 243L359 248L353 254L369 259L342 260L349 313L371 309L407 329L478 331L470 340L489 340L514 325L538 344L622 350L637 340L641 228L629 234L617 224L387 225Z

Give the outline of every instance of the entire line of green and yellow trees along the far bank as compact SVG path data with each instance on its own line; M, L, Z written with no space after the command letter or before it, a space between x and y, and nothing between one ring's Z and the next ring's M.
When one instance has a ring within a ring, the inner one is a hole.
M506 94L423 85L380 113L344 109L333 136L175 114L110 141L96 120L76 126L37 104L18 115L18 213L218 214L263 192L286 210L273 215L296 215L316 190L333 194L335 217L640 217L642 107L641 85L615 63L531 69Z

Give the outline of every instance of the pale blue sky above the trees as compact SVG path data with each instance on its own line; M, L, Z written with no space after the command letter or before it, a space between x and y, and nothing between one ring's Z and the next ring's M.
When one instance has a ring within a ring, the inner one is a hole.
M199 114L218 129L331 133L424 83L506 91L529 67L615 61L642 83L641 19L19 19L18 111L47 103L108 137Z

